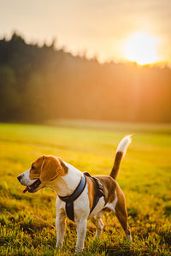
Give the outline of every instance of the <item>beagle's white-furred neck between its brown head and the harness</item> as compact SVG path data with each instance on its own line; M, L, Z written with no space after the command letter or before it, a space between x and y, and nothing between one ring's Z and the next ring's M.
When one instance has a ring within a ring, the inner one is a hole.
M54 181L50 182L47 187L55 190L60 196L68 196L77 188L83 174L80 170L74 168L73 165L64 161L63 163L68 167L68 174L66 176L58 176Z

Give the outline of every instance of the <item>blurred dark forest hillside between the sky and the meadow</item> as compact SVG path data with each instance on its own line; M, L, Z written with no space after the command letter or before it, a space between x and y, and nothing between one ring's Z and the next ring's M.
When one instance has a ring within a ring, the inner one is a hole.
M0 122L171 122L171 69L98 63L21 35L0 40Z

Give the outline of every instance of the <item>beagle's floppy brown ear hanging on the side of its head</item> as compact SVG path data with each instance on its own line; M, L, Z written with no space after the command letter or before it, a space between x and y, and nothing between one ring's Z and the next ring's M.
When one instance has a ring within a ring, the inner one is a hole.
M41 182L53 181L59 175L61 170L62 165L58 158L54 158L52 156L44 156L39 179Z

